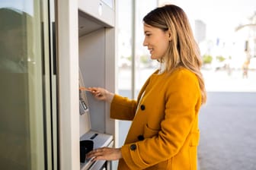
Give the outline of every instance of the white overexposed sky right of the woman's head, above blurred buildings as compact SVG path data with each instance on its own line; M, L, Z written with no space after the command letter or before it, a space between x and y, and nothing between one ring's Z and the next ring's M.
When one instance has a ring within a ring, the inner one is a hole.
M191 20L206 23L207 36L229 38L239 24L256 12L255 0L159 0L184 9Z

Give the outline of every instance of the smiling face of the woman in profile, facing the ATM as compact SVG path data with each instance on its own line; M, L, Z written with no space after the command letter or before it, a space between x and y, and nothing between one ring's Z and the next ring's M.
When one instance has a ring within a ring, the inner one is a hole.
M168 31L144 24L145 39L143 46L147 46L152 59L160 59L165 55L171 40Z

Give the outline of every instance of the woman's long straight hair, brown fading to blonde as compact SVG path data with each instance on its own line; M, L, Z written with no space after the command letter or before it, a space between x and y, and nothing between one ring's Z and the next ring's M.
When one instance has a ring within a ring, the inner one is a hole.
M143 21L152 27L170 31L172 39L167 52L161 58L161 62L165 63L165 71L171 73L176 68L184 67L194 72L199 80L202 103L205 103L206 90L200 71L202 66L200 49L194 40L190 23L184 11L176 5L165 5L150 11Z

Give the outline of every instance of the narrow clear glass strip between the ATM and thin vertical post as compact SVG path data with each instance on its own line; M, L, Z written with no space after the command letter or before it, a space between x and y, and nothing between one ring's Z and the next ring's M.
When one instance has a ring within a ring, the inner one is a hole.
M117 63L118 63L118 93L132 97L132 1L117 3ZM128 26L128 27L127 27ZM118 121L119 145L122 146L130 127L130 121Z

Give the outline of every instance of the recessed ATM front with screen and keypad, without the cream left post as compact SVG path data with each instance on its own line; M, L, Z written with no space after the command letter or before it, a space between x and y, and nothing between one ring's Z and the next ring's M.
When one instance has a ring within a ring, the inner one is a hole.
M114 1L78 1L79 134L80 169L110 169L110 162L91 162L86 153L113 146L114 120L109 105L98 101L84 87L114 91Z

